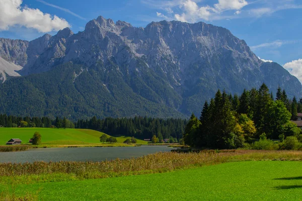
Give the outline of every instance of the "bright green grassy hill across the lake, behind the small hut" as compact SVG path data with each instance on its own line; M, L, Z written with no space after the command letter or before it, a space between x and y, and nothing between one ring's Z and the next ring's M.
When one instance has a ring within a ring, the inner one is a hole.
M36 131L41 134L44 146L102 145L100 136L104 134L89 129L0 128L0 145L5 145L12 138L19 138L22 144L26 144ZM129 137L117 137L117 142L123 143L127 138ZM146 142L137 140L137 144Z

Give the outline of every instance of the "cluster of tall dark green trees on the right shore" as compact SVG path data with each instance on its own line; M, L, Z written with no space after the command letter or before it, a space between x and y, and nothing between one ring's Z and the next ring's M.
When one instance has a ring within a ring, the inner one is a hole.
M283 140L300 134L290 121L298 112L302 112L302 99L289 100L280 87L276 98L265 84L240 96L218 90L210 103L205 102L199 119L192 114L184 141L195 147L238 148L260 138Z

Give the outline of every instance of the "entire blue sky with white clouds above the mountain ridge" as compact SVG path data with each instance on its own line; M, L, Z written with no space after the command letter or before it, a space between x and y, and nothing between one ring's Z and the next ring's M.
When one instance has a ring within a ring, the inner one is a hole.
M30 41L65 27L78 33L98 16L135 27L162 20L221 26L302 82L301 0L0 0L0 37Z

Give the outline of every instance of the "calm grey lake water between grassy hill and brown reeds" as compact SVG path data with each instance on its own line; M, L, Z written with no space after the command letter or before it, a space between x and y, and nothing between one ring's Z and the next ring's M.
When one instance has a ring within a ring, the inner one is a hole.
M21 152L0 152L0 163L102 161L139 157L156 152L171 151L172 149L175 148L167 146L38 148Z

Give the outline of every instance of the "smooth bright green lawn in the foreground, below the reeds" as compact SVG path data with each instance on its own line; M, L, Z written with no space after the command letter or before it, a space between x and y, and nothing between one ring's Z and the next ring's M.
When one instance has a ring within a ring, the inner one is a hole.
M245 161L168 173L1 186L39 200L302 200L302 162Z

